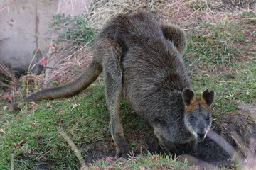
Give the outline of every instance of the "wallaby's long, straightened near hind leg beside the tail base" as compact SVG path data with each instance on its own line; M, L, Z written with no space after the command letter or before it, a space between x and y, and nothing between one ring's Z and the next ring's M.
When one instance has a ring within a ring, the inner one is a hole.
M116 145L116 157L127 157L129 145L124 139L124 132L120 120L120 102L122 97L122 49L117 42L105 38L97 47L102 55L102 66L105 75L105 95L110 111L110 132Z

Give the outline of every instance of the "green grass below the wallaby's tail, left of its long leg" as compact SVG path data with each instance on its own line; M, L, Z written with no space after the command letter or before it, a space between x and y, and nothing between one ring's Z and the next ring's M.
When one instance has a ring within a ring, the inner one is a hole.
M58 134L58 128L63 128L78 146L110 138L102 86L90 88L86 95L86 98L80 94L64 100L41 101L36 111L25 106L18 115L13 115L11 123L1 126L5 134L0 138L1 157L4 158L0 161L0 169L10 168L14 151L16 169L36 169L41 159L54 162L57 166L53 169L78 169L75 155Z

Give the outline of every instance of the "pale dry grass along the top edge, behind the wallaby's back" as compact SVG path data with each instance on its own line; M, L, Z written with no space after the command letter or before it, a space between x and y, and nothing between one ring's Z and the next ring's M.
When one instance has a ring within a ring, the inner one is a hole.
M220 17L227 15L239 16L243 11L255 10L256 6L252 2L242 3L237 2L231 6L223 1L207 1L207 0L151 0L151 1L92 1L92 6L89 11L89 18L92 21L92 26L101 28L102 23L109 20L118 13L131 13L139 10L146 10L154 13L154 16L163 22L175 23L178 26L189 25L193 26L198 21L221 20ZM242 5L241 5L242 4ZM240 6L250 8L242 8ZM190 28L191 29L191 28Z

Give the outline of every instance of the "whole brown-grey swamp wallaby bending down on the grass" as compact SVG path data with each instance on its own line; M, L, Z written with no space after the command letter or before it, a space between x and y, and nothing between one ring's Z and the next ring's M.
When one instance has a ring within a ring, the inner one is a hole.
M159 24L143 11L120 14L97 35L92 62L81 77L38 91L21 102L73 96L103 71L117 156L126 157L129 150L119 115L122 96L149 121L160 145L175 152L177 144L203 140L212 123L214 93L206 90L196 98L182 59L185 47L181 28Z

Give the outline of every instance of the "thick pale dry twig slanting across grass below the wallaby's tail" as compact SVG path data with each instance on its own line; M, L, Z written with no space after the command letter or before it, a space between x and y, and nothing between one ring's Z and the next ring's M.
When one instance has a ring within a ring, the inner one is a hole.
M75 143L70 139L70 137L68 137L68 135L63 130L60 129L60 130L58 130L58 132L65 139L65 141L68 142L68 145L70 145L73 152L75 152L75 156L78 157L78 161L81 164L80 169L81 170L86 169L87 166L85 164L85 159L82 158L82 154L81 154L81 152L79 152L78 147L75 146Z

